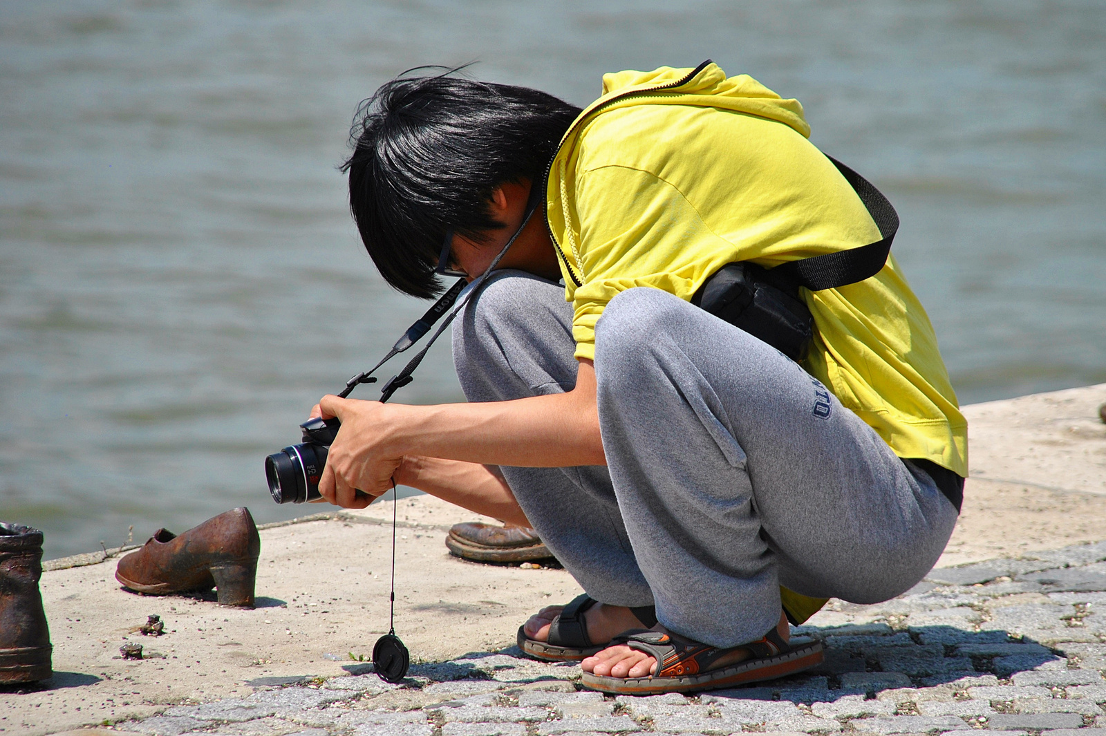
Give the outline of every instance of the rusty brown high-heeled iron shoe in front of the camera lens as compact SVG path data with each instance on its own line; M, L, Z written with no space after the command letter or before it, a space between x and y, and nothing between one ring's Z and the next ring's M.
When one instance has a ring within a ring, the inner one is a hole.
M261 537L250 509L231 509L184 534L158 529L119 560L115 578L154 596L217 589L223 606L253 606Z

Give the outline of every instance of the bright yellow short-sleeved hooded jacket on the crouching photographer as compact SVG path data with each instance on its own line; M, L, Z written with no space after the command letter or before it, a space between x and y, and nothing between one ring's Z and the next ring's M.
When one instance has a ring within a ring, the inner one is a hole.
M797 101L712 63L605 75L603 96L562 139L545 192L576 357L594 358L603 308L627 288L690 301L727 263L772 267L879 240L808 136ZM801 291L816 328L803 368L900 458L967 476L968 425L894 255L860 283ZM825 602L781 592L796 621Z

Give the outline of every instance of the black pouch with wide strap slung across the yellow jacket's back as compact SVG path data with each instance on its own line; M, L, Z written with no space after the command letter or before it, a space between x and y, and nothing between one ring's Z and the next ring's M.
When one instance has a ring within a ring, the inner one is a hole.
M880 240L859 248L789 261L764 269L750 261L728 263L710 276L691 303L740 327L792 360L802 360L814 336L814 319L800 293L836 288L869 278L887 263L898 214L872 182L832 156L879 228Z

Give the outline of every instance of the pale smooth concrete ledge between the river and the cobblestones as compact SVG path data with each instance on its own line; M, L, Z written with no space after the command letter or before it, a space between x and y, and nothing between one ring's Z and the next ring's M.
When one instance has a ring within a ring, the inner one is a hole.
M1096 423L1103 402L1106 385L967 407L972 477L939 566L995 557L1027 559L1034 550L1106 539L1106 427ZM474 565L448 555L444 540L449 526L490 519L429 496L400 498L396 513L396 630L426 672L448 666L425 663L511 646L528 616L580 592L563 570ZM114 560L133 547L51 560L42 593L55 675L42 688L0 693L0 732L40 736L144 718L181 703L249 696L257 688L365 672L373 642L388 628L392 514L393 502L386 501L364 511L327 511L262 527L258 608L251 610L219 607L211 595L146 597L123 590L114 579ZM1082 553L1072 547L1063 554ZM1037 557L1037 564L1045 561L1046 556ZM1047 557L1048 565L1054 558ZM1005 576L1011 578L1005 582L1004 576L983 567L950 575L961 581L972 575L989 577L985 585L997 591L1011 587L1012 596L1032 598L1023 609L1058 604L1045 593L1067 595L1048 592L1053 583L1033 578L1026 569ZM1024 577L1015 580L1016 575ZM1075 585L1053 577L1061 587ZM1018 592L1023 588L1045 593ZM946 606L935 601L935 608ZM893 603L865 608L835 602L814 623L852 625L865 616L900 621L905 613ZM910 616L918 621L929 617L941 625L980 625L975 609L954 600L947 606L952 608ZM1006 606L1001 616L1020 610ZM166 621L166 635L137 632L150 613ZM1077 633L1097 642L1097 631L1086 627L1063 633L1068 641ZM143 644L146 659L123 660L124 642ZM1013 666L1003 664L1011 672Z

